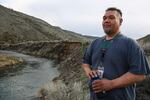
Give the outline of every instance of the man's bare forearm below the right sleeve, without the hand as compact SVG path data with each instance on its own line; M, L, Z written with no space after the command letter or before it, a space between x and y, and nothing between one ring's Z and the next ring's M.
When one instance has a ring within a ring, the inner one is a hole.
M121 88L142 81L144 78L145 75L127 72L121 77L112 80L112 86L113 88Z

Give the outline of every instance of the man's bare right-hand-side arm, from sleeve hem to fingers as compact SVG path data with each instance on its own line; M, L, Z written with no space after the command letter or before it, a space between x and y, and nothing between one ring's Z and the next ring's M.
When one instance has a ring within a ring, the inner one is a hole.
M130 72L125 73L119 78L108 80L96 80L93 82L93 90L97 92L108 91L115 88L122 88L128 85L134 84L136 82L144 80L145 75L143 74L133 74Z

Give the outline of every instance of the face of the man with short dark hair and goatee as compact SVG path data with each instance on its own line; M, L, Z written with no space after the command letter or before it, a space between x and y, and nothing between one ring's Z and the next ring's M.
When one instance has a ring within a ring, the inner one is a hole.
M102 26L107 35L113 35L119 32L121 17L117 11L106 11L103 16Z

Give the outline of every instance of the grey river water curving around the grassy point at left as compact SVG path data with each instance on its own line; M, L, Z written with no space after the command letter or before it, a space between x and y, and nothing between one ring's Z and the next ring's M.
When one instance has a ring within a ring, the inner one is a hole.
M44 84L59 75L52 61L11 51L1 51L25 61L25 64L0 73L0 100L31 100ZM12 66L13 67L13 66Z

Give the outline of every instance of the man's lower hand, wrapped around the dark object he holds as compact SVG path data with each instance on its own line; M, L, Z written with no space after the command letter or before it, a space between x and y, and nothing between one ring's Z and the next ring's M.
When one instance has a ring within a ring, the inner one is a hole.
M92 88L95 93L98 93L111 90L113 88L113 84L112 81L108 79L95 80L92 83Z

